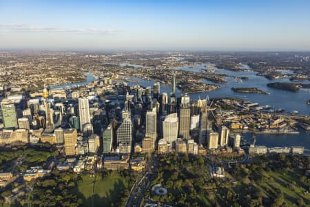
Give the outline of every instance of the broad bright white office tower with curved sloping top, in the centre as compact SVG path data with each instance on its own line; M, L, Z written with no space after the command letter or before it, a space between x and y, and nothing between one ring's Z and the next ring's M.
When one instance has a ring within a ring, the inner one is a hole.
M163 121L163 138L169 144L178 138L178 115L176 113L167 115Z

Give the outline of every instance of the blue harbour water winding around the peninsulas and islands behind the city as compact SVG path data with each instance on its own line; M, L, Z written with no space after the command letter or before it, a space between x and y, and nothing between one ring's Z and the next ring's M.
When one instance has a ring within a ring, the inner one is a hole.
M247 67L247 66L245 66ZM177 68L178 70L189 70L199 72L201 69L205 69L205 65L194 66L192 68ZM291 112L293 110L298 110L298 113L302 115L310 115L310 106L306 104L306 101L310 99L310 93L308 90L300 90L300 92L288 92L285 90L276 90L272 88L268 88L266 86L267 83L273 82L265 77L256 76L256 72L232 72L230 70L222 70L218 68L214 68L211 65L207 69L214 69L218 74L226 74L226 75L234 75L238 77L249 77L248 80L227 78L226 80L229 82L227 84L220 84L221 88L218 90L213 90L210 92L197 92L189 94L191 99L201 99L205 98L209 95L212 97L236 97L240 99L246 99L248 101L260 103L261 106L271 105L275 108L285 108L287 112ZM85 74L87 77L87 81L81 83L69 83L61 86L54 86L54 88L65 88L67 86L81 86L87 83L94 81L95 77L87 73ZM128 82L128 86L141 85L143 87L153 86L156 81L148 81L145 79L139 79L135 77L130 77L132 81ZM289 79L278 79L276 81L289 81ZM207 82L207 81L206 81ZM293 82L296 83L296 82ZM309 83L309 81L303 81L302 83ZM265 90L270 92L270 95L262 95L262 94L241 94L238 92L234 92L231 90L231 87L251 87L258 88L261 90ZM169 95L171 92L170 86L164 86L161 84L161 92L167 92ZM177 94L181 95L181 90L177 90ZM267 147L274 146L304 146L306 149L310 149L310 132L306 132L302 129L299 130L300 134L297 135L266 135L259 134L256 135L256 144L257 145L265 145ZM242 134L242 138L249 142L253 142L253 138L251 133Z

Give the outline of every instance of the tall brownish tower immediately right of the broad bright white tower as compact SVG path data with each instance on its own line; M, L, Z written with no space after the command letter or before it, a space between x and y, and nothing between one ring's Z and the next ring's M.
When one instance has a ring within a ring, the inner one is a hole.
M190 139L189 136L189 125L191 121L191 109L189 103L181 103L180 105L180 126L179 136L185 139Z

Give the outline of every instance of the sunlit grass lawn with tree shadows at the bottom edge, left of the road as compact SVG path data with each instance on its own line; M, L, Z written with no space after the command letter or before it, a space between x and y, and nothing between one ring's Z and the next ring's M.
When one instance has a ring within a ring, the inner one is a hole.
M94 190L94 206L111 206L121 201L121 191L127 188L127 183L123 177L116 172L101 178L101 175L90 177L83 175L82 181L79 181L72 193L83 199L83 206L92 206L92 192ZM94 183L94 180L96 182Z

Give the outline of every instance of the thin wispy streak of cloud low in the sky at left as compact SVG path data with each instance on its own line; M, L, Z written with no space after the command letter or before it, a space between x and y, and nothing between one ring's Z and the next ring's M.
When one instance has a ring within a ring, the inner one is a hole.
M121 30L102 30L97 28L58 28L28 26L24 24L0 24L0 30L10 30L12 32L55 32L74 34L117 34Z

